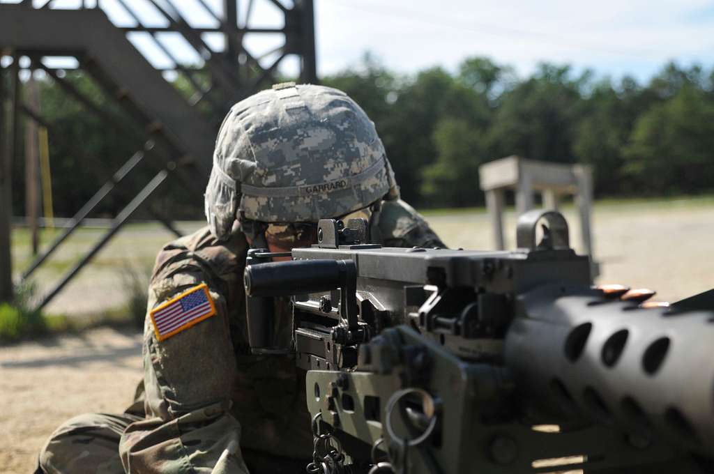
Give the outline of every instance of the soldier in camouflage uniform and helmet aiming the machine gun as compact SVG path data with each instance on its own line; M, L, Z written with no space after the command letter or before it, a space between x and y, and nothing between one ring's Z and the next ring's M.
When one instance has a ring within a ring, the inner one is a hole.
M351 217L367 218L386 246L443 246L399 199L374 124L346 94L288 83L233 106L213 153L208 226L156 258L144 390L122 415L61 425L38 472L303 472L313 450L305 373L249 354L246 252L309 246L319 218ZM276 334L290 341L286 309L276 304Z

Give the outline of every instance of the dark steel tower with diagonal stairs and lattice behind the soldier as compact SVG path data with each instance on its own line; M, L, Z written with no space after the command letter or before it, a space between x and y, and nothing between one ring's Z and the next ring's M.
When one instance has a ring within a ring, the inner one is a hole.
M121 1L121 0L120 0ZM156 138L156 150L149 153L148 150L141 154L141 158L132 157L115 176L105 183L97 191L95 196L83 206L74 216L72 225L68 231L55 241L42 256L40 256L25 272L29 276L32 271L41 265L44 259L59 246L69 234L77 228L93 208L106 196L119 181L121 181L131 168L139 164L139 161L146 153L153 156L154 160L160 163L158 166L164 168L154 177L124 210L112 221L109 231L89 250L80 263L73 268L60 283L53 288L41 303L41 307L56 296L71 278L78 273L81 268L91 261L91 258L106 245L116 231L124 225L136 208L146 201L152 193L164 182L166 176L174 171L173 176L182 181L183 186L189 191L198 194L203 193L205 181L196 179L196 176L205 178L211 168L211 156L213 153L213 141L216 136L217 124L206 120L191 103L178 94L172 84L169 84L161 76L161 73L149 64L146 59L136 51L133 45L126 39L127 31L146 31L152 34L171 31L182 34L191 46L198 51L206 61L203 71L211 74L211 86L208 90L201 87L201 82L196 79L193 71L186 69L176 61L169 49L166 49L159 39L155 39L159 47L176 64L175 70L181 71L196 91L201 91L201 99L211 100L214 111L223 113L223 108L230 106L233 101L243 99L243 97L253 94L258 88L263 87L268 81L275 81L274 71L281 63L286 54L298 54L303 58L301 79L316 83L315 71L315 48L314 48L314 26L313 26L313 0L295 0L294 6L288 9L280 0L269 0L281 9L285 15L285 26L283 28L251 28L249 26L250 11L253 7L253 0L249 0L245 19L238 19L238 0L223 0L223 14L216 14L211 10L205 0L198 0L204 8L218 21L218 26L213 28L193 28L188 21L181 16L181 13L171 4L171 1L161 1L157 4L155 0L149 0L161 11L169 20L168 27L147 27L136 19L137 26L121 28L111 24L101 9L85 9L84 0L76 10L51 9L51 0L40 9L32 7L31 2L23 1L21 5L0 4L0 45L5 48L13 48L15 54L22 54L35 58L41 56L74 56L80 60L81 69L88 71L109 96L117 99L121 106L137 119L137 122L144 126L144 131ZM121 1L127 6L127 2ZM127 9L130 14L133 12ZM241 21L242 20L242 21ZM217 32L226 37L226 53L216 54L206 45L201 38L201 34L206 32ZM283 34L286 42L281 46L281 56L264 68L258 63L248 51L243 48L242 36L246 33ZM238 61L241 58L241 61ZM244 60L243 60L244 59ZM106 123L119 129L119 133L129 132L132 137L142 138L140 127L127 126L119 117L101 109L93 101L86 99L81 91L72 87L69 81L63 81L54 69L38 64L53 77L59 86L68 94L74 96L84 104L90 111ZM18 66L14 61L14 78L16 81ZM172 69L174 70L174 69ZM256 81L256 78L258 81ZM17 86L17 82L14 83ZM16 88L16 90L19 90ZM221 96L221 94L223 94ZM13 94L14 99L17 98ZM223 98L220 103L218 98ZM2 104L0 91L0 104ZM199 99L199 100L201 100ZM225 103L225 104L223 104ZM1 107L0 107L1 109ZM14 101L13 119L11 124L16 127L18 110L35 121L42 123L43 119L39 114L28 107ZM218 117L220 118L220 117ZM0 114L0 119L7 119L6 114ZM10 203L10 172L11 160L16 154L16 141L8 139L8 127L3 126L0 121L0 148L3 153L0 164L0 200ZM6 137L2 140L3 136ZM16 136L11 133L10 138ZM169 158L171 157L171 158ZM148 160L144 160L148 161ZM119 176L119 178L118 178ZM4 181L3 181L4 180ZM6 186L5 186L6 183ZM7 196L7 197L6 197ZM3 218L5 214L7 218ZM156 208L150 208L149 212L154 215L157 221L166 226L169 231L179 235L178 230L169 218L162 216ZM4 274L9 279L11 293L11 264L9 253L9 222L11 209L9 206L0 208L0 276L2 276L7 262L9 269ZM2 245L3 242L7 245ZM3 260L3 249L6 250L6 258ZM1 285L1 281L0 281ZM0 288L1 290L1 288ZM1 298L0 298L1 299Z

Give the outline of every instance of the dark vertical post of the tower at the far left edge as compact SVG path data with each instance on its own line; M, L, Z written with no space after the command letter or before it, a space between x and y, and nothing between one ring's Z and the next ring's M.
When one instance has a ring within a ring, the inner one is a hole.
M0 51L1 52L1 51ZM1 56L1 54L0 54ZM0 301L12 301L12 159L16 150L16 119L19 99L19 56L10 68L10 89L5 91L4 71L0 66ZM7 102L10 99L8 113Z

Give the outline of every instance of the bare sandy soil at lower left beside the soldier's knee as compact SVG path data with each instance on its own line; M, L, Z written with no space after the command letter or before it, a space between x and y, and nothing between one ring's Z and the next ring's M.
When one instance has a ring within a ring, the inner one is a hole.
M141 336L99 328L0 348L0 473L30 473L62 421L121 412L141 379Z

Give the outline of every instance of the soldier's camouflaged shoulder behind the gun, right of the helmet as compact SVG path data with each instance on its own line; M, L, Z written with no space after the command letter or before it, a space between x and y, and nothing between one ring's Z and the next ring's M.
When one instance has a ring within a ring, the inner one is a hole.
M401 199L382 201L372 225L373 238L384 246L446 247L421 214Z

